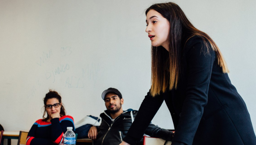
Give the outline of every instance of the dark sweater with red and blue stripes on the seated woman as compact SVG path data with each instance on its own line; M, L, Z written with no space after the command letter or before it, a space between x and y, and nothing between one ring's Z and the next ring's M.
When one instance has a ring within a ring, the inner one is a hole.
M63 142L64 133L67 127L75 130L72 116L62 116L60 119L54 118L51 122L37 120L29 131L26 145L56 145Z

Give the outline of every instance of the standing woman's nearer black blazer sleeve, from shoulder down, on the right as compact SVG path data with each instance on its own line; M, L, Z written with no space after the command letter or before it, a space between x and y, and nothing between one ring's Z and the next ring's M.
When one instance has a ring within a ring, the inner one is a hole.
M199 37L191 38L185 47L185 51L188 80L186 90L184 90L185 100L178 125L175 128L172 145L176 145L175 142L177 142L177 145L180 142L185 145L192 145L204 113L204 106L207 104L212 66L215 60L215 52L212 48L207 50Z

